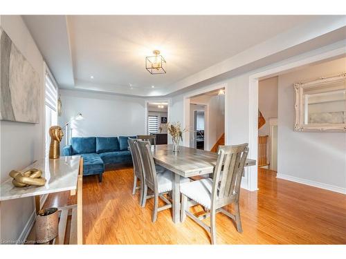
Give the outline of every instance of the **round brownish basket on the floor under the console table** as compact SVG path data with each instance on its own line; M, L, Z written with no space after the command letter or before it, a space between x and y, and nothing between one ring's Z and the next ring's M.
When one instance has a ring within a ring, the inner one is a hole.
M57 208L42 209L36 216L36 242L46 243L57 237L59 229Z

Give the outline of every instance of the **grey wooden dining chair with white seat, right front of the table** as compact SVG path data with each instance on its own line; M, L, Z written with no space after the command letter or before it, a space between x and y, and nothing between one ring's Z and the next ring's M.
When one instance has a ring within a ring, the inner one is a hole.
M240 182L246 157L248 144L236 146L220 146L213 178L206 178L194 182L181 184L181 222L188 215L201 227L210 233L211 243L216 244L216 214L221 212L235 221L237 231L242 232L242 222L239 212ZM190 212L188 199L201 204L208 209L204 215L197 217ZM235 214L226 211L223 207L233 204ZM210 226L202 220L210 217Z

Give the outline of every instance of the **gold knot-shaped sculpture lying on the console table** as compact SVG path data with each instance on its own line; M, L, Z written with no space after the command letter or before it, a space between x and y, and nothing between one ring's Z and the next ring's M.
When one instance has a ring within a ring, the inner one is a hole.
M43 186L46 179L41 177L42 171L39 169L30 169L25 172L10 171L10 177L13 178L12 184L17 187L26 187L29 185Z

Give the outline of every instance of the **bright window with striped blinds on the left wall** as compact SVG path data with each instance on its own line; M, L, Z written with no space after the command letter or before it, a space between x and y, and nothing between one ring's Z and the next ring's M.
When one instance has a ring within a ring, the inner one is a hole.
M49 152L49 144L51 142L51 137L49 136L49 128L51 126L57 125L57 85L55 80L51 76L51 73L46 72L45 77L46 85L46 99L45 99L45 108L46 108L46 125L45 125L45 137L46 137L46 156Z

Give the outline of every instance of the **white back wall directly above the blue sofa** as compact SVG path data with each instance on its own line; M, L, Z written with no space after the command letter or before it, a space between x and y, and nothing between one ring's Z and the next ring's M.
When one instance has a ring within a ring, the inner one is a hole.
M145 134L145 100L136 97L60 90L64 125L78 113L84 119L71 123L72 137Z

